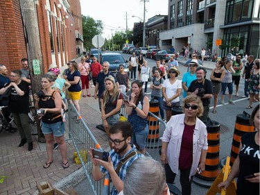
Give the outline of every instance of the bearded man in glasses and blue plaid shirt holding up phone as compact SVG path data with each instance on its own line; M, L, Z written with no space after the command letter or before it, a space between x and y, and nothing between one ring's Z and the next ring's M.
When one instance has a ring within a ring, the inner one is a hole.
M132 126L129 122L118 121L110 128L110 137L108 138L112 150L108 162L93 158L91 148L89 155L93 163L92 176L94 180L101 180L107 173L110 174L112 183L112 195L119 194L123 189L123 180L125 180L128 168L140 158L141 153L137 153L137 148L131 143ZM115 169L115 167L121 168Z

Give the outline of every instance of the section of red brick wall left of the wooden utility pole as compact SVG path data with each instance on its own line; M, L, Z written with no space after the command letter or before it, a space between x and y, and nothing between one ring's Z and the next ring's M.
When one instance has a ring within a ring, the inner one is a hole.
M8 71L21 69L21 58L26 58L26 44L21 22L19 0L0 1L0 63Z

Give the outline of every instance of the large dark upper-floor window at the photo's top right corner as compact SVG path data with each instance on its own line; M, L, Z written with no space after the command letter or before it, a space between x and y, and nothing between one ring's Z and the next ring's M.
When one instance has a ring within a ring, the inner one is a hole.
M227 0L225 24L252 18L253 0Z

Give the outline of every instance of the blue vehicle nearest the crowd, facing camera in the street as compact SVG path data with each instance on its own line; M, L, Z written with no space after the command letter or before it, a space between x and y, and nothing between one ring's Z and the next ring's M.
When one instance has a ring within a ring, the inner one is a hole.
M110 62L110 71L116 73L119 71L119 65L123 65L124 71L128 72L128 60L125 60L120 53L103 53L101 56L101 65L103 62Z

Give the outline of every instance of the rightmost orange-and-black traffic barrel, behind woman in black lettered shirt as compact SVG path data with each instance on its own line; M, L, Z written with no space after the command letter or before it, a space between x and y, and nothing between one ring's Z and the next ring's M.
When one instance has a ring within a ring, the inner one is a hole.
M241 143L241 137L248 132L253 132L254 126L250 125L250 115L248 112L243 112L243 114L236 115L236 124L234 128L234 135L230 153L230 166L233 165L239 154L239 145Z

